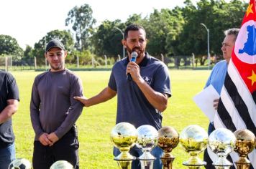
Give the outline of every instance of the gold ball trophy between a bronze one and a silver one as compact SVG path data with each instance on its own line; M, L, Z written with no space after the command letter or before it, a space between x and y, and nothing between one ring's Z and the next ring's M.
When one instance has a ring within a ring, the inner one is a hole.
M183 165L191 169L198 169L206 165L205 161L198 158L198 154L206 149L208 143L208 134L204 128L198 125L188 125L180 134L180 143L191 155L191 158L183 162Z

